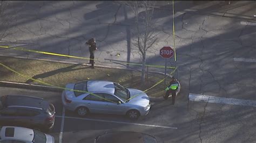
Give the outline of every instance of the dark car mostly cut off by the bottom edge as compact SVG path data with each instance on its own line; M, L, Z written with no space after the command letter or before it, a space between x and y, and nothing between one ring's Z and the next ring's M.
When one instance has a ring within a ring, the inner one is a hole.
M105 133L98 135L95 138L95 143L160 143L164 142L158 137L153 135L140 133L140 132L129 132L129 131L119 131Z

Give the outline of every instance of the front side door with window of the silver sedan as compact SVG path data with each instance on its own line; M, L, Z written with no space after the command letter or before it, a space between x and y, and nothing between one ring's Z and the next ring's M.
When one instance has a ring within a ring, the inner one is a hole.
M105 100L105 111L107 113L122 114L125 110L125 105L115 96L111 94L103 94Z

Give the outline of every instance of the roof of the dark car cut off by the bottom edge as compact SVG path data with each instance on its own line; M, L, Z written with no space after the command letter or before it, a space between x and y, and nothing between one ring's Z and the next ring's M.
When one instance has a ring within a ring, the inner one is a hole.
M122 142L122 143L143 143L144 138L143 135L149 135L140 132L130 132L130 131L119 131L119 132L111 132L99 135L97 143L105 143L105 142ZM154 138L152 135L150 137ZM156 138L154 138L156 140Z

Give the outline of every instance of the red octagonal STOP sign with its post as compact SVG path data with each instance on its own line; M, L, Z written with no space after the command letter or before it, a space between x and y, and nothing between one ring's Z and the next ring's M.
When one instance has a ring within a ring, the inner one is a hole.
M174 55L174 51L170 46L164 46L163 48L160 49L160 56L165 59L165 70L164 70L164 75L166 77L166 67L167 67L167 59L172 58ZM164 84L166 84L166 80L164 80Z

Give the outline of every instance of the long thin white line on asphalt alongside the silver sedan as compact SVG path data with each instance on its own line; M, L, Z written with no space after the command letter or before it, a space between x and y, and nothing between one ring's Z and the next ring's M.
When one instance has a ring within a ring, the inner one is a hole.
M62 117L62 116L55 116L55 117ZM88 119L88 118L78 118L78 117L65 117L70 119L81 119L81 120L92 120L92 121L104 121L109 123L118 123L118 124L130 124L130 125L139 125L139 126L150 126L150 127L161 127L161 128L172 128L178 129L177 127L169 127L169 126L158 126L158 125L147 125L147 124L138 124L138 123L127 123L124 121L113 121L113 120L99 120L99 119Z

